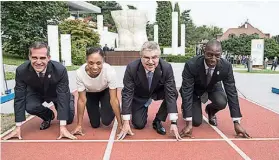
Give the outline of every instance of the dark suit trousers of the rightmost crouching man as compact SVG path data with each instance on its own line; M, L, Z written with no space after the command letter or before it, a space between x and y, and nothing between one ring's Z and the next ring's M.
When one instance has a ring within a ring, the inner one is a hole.
M210 109L213 114L216 114L218 111L226 108L227 97L224 91L208 92L208 99L211 101L211 103L206 106L206 109ZM200 98L193 102L192 115L193 126L200 126L202 124L202 109Z

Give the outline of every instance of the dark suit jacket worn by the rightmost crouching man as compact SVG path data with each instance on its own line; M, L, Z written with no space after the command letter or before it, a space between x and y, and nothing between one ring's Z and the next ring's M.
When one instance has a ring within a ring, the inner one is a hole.
M184 115L192 117L193 101L198 99L205 91L214 92L222 90L221 82L223 82L227 94L231 117L241 117L232 65L221 58L215 67L210 83L206 86L203 55L190 59L184 66L182 86L180 88Z

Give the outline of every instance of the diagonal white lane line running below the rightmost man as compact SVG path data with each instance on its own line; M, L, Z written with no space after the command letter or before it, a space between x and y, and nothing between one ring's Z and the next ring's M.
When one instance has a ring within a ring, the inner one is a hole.
M203 116L203 119L209 124L208 119ZM210 124L209 124L210 125ZM210 125L225 141L245 160L251 160L240 148L237 147L222 131L217 127Z

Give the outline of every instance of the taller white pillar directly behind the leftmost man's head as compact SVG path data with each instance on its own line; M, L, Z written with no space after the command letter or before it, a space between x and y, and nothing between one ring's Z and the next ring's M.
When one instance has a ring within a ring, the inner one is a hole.
M50 47L51 60L59 62L59 40L58 40L58 26L47 26L47 39Z

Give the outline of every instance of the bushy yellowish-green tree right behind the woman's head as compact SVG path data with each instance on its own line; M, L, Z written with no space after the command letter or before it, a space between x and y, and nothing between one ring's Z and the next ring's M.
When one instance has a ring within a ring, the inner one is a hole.
M59 24L59 30L61 34L71 34L72 60L75 65L85 63L87 47L100 47L99 34L81 20L66 20Z

